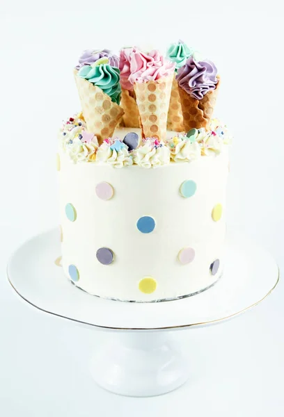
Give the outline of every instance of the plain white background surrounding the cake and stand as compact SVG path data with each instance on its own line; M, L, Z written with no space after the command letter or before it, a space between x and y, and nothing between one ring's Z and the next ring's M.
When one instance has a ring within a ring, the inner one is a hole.
M283 12L281 1L1 1L0 414L283 416L283 284L244 316L175 333L192 376L159 398L120 398L86 369L105 334L20 302L10 252L58 223L54 154L61 120L79 110L72 67L82 49L181 38L216 63L216 115L234 133L228 223L284 267ZM261 262L261 259L259 260Z

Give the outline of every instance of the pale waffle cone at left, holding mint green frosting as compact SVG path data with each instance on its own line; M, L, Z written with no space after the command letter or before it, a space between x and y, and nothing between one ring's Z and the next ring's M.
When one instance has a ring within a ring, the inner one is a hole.
M77 76L77 72L74 70L74 76L87 129L102 143L104 139L113 136L114 129L123 116L123 108L111 101L111 97L101 88Z

